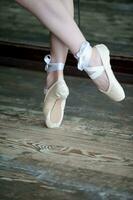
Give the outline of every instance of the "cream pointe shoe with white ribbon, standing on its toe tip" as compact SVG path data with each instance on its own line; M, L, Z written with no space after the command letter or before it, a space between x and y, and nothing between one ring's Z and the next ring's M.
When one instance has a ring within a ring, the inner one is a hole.
M63 70L63 63L50 63L51 57L45 56L48 72ZM48 128L58 128L63 120L66 99L69 89L63 78L58 79L49 89L45 89L43 113Z

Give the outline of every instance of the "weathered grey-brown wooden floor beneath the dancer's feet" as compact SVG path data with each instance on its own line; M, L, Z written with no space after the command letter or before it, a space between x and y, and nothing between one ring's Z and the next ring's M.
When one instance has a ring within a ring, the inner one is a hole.
M1 200L133 200L133 85L114 103L88 79L59 129L44 125L41 72L0 67Z

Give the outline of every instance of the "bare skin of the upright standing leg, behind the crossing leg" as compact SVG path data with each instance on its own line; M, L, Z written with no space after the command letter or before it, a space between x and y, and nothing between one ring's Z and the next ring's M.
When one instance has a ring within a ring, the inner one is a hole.
M62 0L64 7L68 10L70 15L74 16L73 0ZM68 47L51 33L51 62L64 63L68 53ZM63 70L49 72L47 74L46 87L49 88L58 78L63 77Z

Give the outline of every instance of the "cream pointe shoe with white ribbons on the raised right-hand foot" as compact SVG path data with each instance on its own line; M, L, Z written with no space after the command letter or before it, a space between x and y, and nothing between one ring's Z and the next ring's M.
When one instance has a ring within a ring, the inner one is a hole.
M103 91L101 89L99 90L114 101L122 101L125 98L125 93L120 83L116 80L114 73L111 69L110 55L108 48L104 44L99 44L95 46L101 57L103 65L97 67L90 67L87 66L88 62L86 62L86 55L88 55L86 52L89 51L90 48L89 46L90 45L88 42L84 42L82 48L77 54L79 58L78 69L85 70L92 80L101 76L102 73L105 71L109 80L109 87L107 91Z

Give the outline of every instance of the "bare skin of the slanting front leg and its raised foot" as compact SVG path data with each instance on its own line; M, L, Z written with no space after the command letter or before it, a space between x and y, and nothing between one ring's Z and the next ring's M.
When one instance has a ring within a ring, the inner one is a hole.
M56 35L75 55L81 44L86 41L77 24L73 20L68 10L61 0L16 0L22 6L31 11L47 28ZM98 52L93 48L92 66L101 65ZM108 88L108 78L106 73L94 80L100 89Z

